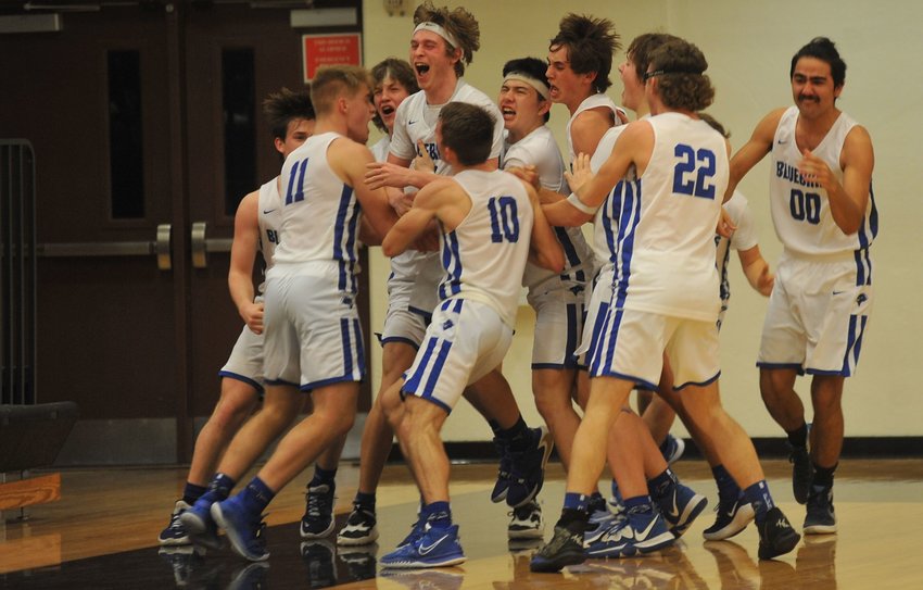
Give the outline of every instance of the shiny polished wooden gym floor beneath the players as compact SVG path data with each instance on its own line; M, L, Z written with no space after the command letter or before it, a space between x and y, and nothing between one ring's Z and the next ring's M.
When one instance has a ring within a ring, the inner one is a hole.
M774 495L793 524L799 524L804 506L792 500L787 462L764 465ZM494 469L453 467L453 509L468 561L458 567L406 572L381 570L377 564L415 517L417 494L400 465L388 468L379 491L377 544L343 550L332 542L302 542L296 522L304 510L303 490L293 485L270 505L266 535L271 556L263 564L249 564L228 549L204 553L191 547L156 547L156 533L181 489L182 469L67 470L62 474L61 502L31 509L25 522L4 513L0 588L923 588L920 460L844 461L835 498L839 532L806 537L777 561L756 558L753 526L731 541L704 541L701 530L712 518L707 511L674 548L641 558L591 561L562 574L531 574L534 544L507 541L506 509L489 499ZM713 503L713 484L704 463L681 461L675 470ZM341 467L340 520L349 511L356 478L354 466ZM562 493L555 465L542 492L551 522Z

